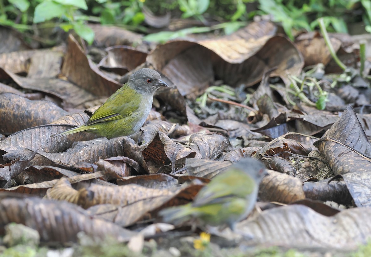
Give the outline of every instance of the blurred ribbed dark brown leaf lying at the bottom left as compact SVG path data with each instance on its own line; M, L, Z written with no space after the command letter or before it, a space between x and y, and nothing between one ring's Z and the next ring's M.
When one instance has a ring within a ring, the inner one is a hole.
M128 241L134 232L108 221L93 218L82 208L69 202L29 198L3 198L0 201L0 227L15 222L22 223L40 233L46 242L77 242L82 231L87 236L104 239L107 236ZM17 213L17 215L14 215Z

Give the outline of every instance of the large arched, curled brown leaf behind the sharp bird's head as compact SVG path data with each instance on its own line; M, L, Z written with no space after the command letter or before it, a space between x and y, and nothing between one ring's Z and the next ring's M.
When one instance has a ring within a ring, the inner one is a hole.
M277 69L272 76L286 79L285 71L298 74L303 61L287 39L272 38L275 32L272 23L263 21L218 39L174 40L158 46L147 60L173 81L182 95L190 98L207 88L213 74L212 66L217 77L229 85L253 85L261 79L267 67L274 66ZM240 70L244 70L244 74ZM194 85L198 85L197 88Z

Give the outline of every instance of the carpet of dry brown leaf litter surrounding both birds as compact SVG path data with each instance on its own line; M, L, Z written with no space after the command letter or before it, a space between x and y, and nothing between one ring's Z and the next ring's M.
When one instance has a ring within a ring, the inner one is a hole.
M63 245L79 241L78 232L95 240L182 240L178 233L194 235L193 224L165 228L158 212L192 201L233 162L252 157L270 170L259 204L275 205L257 207L237 224L252 235L238 246L352 250L367 243L370 85L354 86L356 77L345 84L317 69L333 99L326 109L310 105L318 98L310 86L301 92L306 102L287 97L292 76L307 76L303 67L335 69L320 34L292 43L261 21L228 36L145 49L133 47L137 34L92 28L93 47L109 47L98 61L72 35L66 48L0 55L3 234L15 222ZM339 54L358 57L340 37L331 42ZM313 49L321 51L309 54ZM110 140L85 132L50 137L85 123L141 67L158 70L171 88L156 93L139 132ZM328 85L334 79L338 87Z

